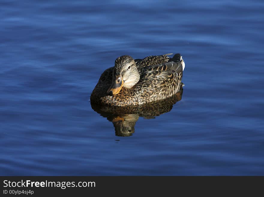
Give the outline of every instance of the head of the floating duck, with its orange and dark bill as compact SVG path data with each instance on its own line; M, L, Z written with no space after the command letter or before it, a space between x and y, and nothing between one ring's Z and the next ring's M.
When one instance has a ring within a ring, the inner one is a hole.
M123 55L116 59L113 69L112 84L107 90L110 96L119 93L121 88L132 88L140 79L136 63L129 55Z

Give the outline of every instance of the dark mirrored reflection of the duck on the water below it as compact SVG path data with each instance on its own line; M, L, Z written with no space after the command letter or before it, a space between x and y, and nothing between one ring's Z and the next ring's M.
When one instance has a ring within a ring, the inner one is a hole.
M183 89L180 88L179 92L172 97L144 105L107 106L91 103L91 107L101 116L113 122L116 136L131 136L135 132L135 124L139 117L149 119L169 112L173 104L182 99L182 92Z

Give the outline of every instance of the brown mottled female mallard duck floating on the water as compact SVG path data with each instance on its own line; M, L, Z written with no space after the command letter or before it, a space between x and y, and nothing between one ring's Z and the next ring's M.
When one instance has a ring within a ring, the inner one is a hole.
M141 105L171 97L182 87L185 64L177 53L133 59L123 55L101 75L91 102L112 106Z

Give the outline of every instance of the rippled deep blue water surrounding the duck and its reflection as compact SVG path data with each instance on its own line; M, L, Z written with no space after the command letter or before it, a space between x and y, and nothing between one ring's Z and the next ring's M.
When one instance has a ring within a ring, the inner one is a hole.
M263 10L2 0L0 175L264 175ZM89 100L101 73L120 55L178 52L181 100L116 135Z

